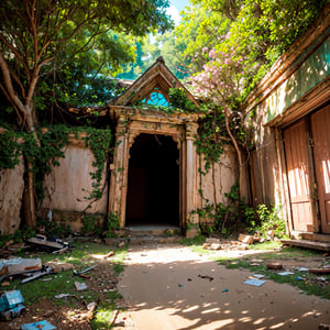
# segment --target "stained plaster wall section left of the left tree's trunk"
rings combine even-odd
[[[24,164],[13,169],[0,168],[0,234],[11,234],[20,229]]]

